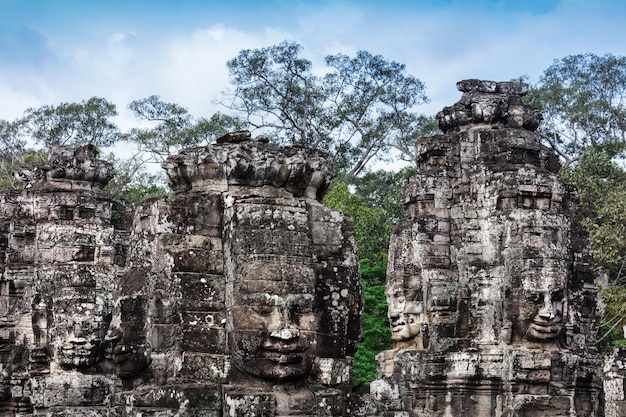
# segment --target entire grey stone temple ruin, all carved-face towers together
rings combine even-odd
[[[363,294],[327,155],[234,132],[170,156],[173,194],[137,207],[90,146],[0,195],[0,416],[623,414],[626,355],[603,404],[588,240],[527,87],[458,88],[403,183],[371,395],[351,390]]]

